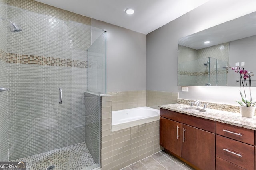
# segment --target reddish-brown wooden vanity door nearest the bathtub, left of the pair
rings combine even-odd
[[[182,124],[160,117],[160,145],[181,157]]]

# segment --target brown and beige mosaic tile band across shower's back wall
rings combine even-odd
[[[88,68],[87,61],[7,53],[7,63]]]

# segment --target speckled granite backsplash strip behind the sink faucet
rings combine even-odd
[[[195,102],[195,100],[181,99],[181,98],[177,99],[178,104],[190,105],[189,102]],[[235,106],[235,105],[218,104],[218,103],[211,103],[211,102],[204,102],[204,101],[200,101],[200,104],[201,106],[203,106],[204,104],[207,104],[207,108],[210,108],[210,109],[240,113],[239,106]]]

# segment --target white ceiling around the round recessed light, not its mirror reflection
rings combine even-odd
[[[186,14],[208,0],[36,0],[44,4],[68,10],[148,34],[166,23]],[[124,12],[135,10],[133,15]]]

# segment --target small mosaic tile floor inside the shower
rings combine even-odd
[[[85,142],[12,161],[26,162],[26,170],[46,170],[50,165],[56,166],[53,170],[81,170],[95,164]]]

